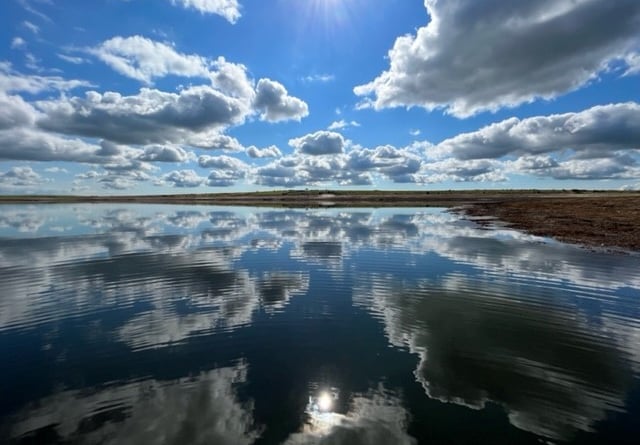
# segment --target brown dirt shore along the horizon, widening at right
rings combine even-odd
[[[0,204],[65,202],[302,208],[452,207],[470,219],[487,222],[495,218],[534,235],[590,247],[640,251],[640,192],[294,190],[145,196],[0,196]]]

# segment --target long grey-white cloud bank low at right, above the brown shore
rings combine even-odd
[[[640,173],[640,105],[510,118],[425,147],[426,182],[503,181],[508,173],[553,179],[626,179]]]

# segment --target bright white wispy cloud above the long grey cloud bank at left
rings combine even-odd
[[[114,37],[89,50],[118,73],[147,84],[168,74],[207,77],[207,60],[180,54],[172,46],[142,37]]]

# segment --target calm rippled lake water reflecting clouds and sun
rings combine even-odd
[[[443,209],[0,211],[0,442],[639,437],[639,256]]]

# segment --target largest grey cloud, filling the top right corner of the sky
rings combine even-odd
[[[637,51],[640,3],[425,0],[430,22],[399,37],[363,105],[466,117],[575,90]]]

